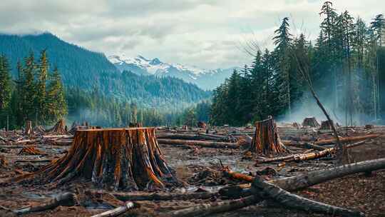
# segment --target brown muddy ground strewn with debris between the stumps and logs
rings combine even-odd
[[[292,129],[290,132],[292,133]],[[383,133],[383,128],[376,128],[376,133]],[[282,137],[284,130],[280,130]],[[302,133],[302,131],[301,131]],[[347,132],[349,133],[349,132]],[[363,129],[355,129],[349,133],[364,135],[370,133]],[[375,158],[385,158],[385,138],[379,137],[368,141],[364,146],[353,148],[349,151],[350,161],[365,161]],[[47,153],[46,156],[23,156],[19,155],[19,148],[1,148],[0,155],[6,159],[6,165],[0,168],[0,178],[18,176],[22,173],[36,171],[46,163],[24,163],[18,162],[21,159],[52,159],[65,154],[68,146],[43,146],[38,145],[39,150]],[[203,188],[206,191],[217,191],[223,186],[242,183],[230,180],[222,176],[222,166],[229,166],[232,171],[255,174],[258,171],[266,171],[266,168],[273,168],[272,173],[265,178],[280,178],[294,176],[307,171],[315,171],[322,168],[334,166],[331,157],[319,160],[261,164],[255,166],[253,158],[244,158],[245,150],[242,149],[220,149],[220,148],[197,148],[187,146],[166,146],[160,145],[168,164],[175,169],[178,178],[186,185],[185,188],[173,189],[175,192],[197,191]],[[300,148],[292,148],[294,151],[304,151]],[[92,216],[101,213],[113,206],[119,206],[123,202],[112,196],[101,194],[91,195],[89,190],[94,189],[90,183],[81,180],[73,181],[61,188],[50,188],[49,186],[28,186],[11,184],[0,187],[0,216],[11,216],[5,208],[15,209],[24,206],[31,206],[47,201],[51,196],[63,191],[71,191],[78,195],[81,206],[59,206],[51,211],[31,213],[25,216]],[[337,178],[326,183],[299,191],[297,194],[306,198],[321,201],[334,206],[342,206],[362,211],[366,216],[385,216],[385,171],[376,171],[372,174],[355,174],[344,178]],[[125,216],[159,216],[167,211],[179,208],[188,208],[200,203],[219,201],[220,198],[211,198],[199,201],[142,201],[141,207],[125,213]],[[283,208],[277,204],[260,203],[257,206],[242,208],[237,211],[217,214],[215,216],[324,216],[304,211],[294,211]]]

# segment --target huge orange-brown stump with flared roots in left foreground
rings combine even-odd
[[[16,181],[58,186],[75,178],[114,190],[179,185],[160,152],[155,128],[78,130],[66,156]]]

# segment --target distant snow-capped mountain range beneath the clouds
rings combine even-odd
[[[164,63],[158,58],[146,59],[143,56],[129,58],[125,55],[113,55],[109,56],[108,59],[120,71],[132,71],[139,75],[173,76],[197,84],[205,90],[215,89],[230,77],[235,69],[200,69],[196,66]]]

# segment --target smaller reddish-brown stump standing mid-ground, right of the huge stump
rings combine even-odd
[[[250,151],[257,154],[274,155],[287,152],[287,148],[279,138],[277,123],[272,116],[265,121],[255,123],[255,133]]]

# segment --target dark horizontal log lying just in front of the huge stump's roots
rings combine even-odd
[[[99,191],[98,191],[99,192]],[[145,193],[145,192],[113,192],[113,196],[120,201],[188,201],[208,199],[218,196],[218,193],[193,192],[193,193]]]

